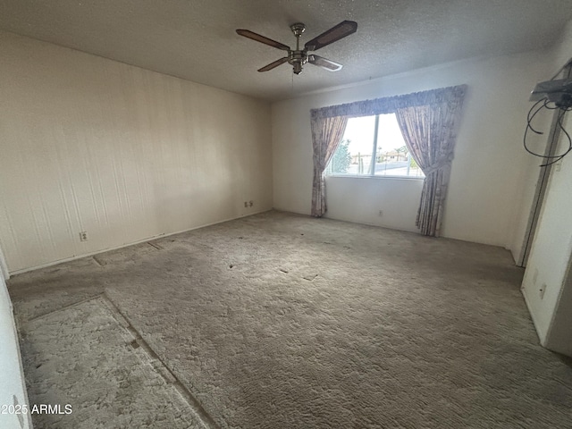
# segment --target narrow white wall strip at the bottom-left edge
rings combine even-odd
[[[13,319],[12,301],[4,278],[0,275],[0,406],[14,405],[14,397],[18,404],[28,407],[28,394],[21,368],[18,335]],[[3,408],[4,410],[4,408]],[[6,413],[9,409],[4,410]],[[29,411],[29,408],[28,408]],[[4,414],[0,412],[0,427],[31,427],[29,413],[26,415]]]

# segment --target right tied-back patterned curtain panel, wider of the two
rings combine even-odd
[[[397,121],[409,152],[425,173],[416,226],[423,235],[439,237],[447,196],[456,124],[465,87],[447,88],[433,103],[399,107]]]

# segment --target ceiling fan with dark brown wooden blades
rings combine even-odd
[[[306,63],[317,65],[327,71],[339,71],[342,67],[340,63],[334,63],[322,56],[308,54],[308,52],[317,51],[321,47],[328,46],[333,42],[337,42],[341,38],[345,38],[350,34],[355,33],[357,31],[357,22],[341,21],[335,27],[324,31],[321,35],[306,42],[304,49],[300,49],[300,37],[306,30],[306,25],[301,22],[296,22],[295,24],[290,25],[290,29],[292,30],[292,33],[294,33],[294,36],[296,36],[296,49],[290,49],[290,46],[283,45],[272,38],[265,38],[249,29],[237,29],[236,32],[245,38],[251,38],[257,42],[264,43],[265,45],[282,49],[282,51],[288,51],[288,56],[284,56],[273,63],[269,63],[261,69],[258,69],[258,71],[269,71],[283,63],[289,63],[295,74],[300,74],[302,66]]]

